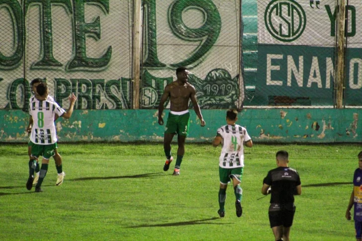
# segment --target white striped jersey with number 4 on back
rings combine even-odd
[[[239,125],[226,125],[217,130],[217,136],[222,138],[219,166],[222,168],[243,167],[244,142],[251,140],[246,129]]]

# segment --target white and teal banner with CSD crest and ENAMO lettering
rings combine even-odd
[[[334,104],[339,7],[334,0],[317,2],[258,1],[255,93],[266,102],[271,96],[288,96],[311,99],[312,105]],[[361,105],[362,28],[356,24],[361,10],[361,1],[350,0],[346,6],[346,105]]]

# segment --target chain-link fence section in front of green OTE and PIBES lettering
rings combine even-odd
[[[130,108],[132,4],[0,0],[0,109],[25,110],[35,78],[64,108]]]

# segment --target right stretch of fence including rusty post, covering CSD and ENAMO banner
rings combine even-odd
[[[339,4],[243,0],[246,106],[361,107],[362,3]]]

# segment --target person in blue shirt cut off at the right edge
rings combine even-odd
[[[351,209],[354,207],[355,229],[356,239],[361,241],[362,239],[362,152],[358,154],[359,168],[355,170],[353,176],[353,190],[350,197],[350,203],[348,204],[346,211],[347,220],[351,220]]]

